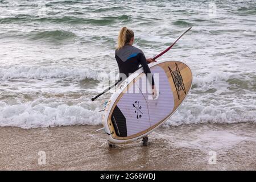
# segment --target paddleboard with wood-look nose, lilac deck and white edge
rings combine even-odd
[[[148,64],[156,94],[143,68],[130,75],[106,104],[102,123],[111,143],[129,143],[150,134],[177,110],[192,85],[192,72],[180,61]]]

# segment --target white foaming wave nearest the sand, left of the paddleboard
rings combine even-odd
[[[0,126],[31,129],[37,127],[56,127],[71,125],[100,125],[101,113],[79,105],[65,104],[53,107],[47,104],[29,102],[7,105],[0,101]]]

